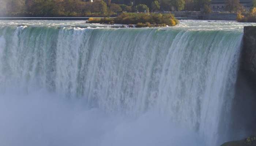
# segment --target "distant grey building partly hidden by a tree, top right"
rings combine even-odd
[[[240,0],[240,4],[248,11],[252,7],[252,0]],[[210,6],[212,11],[226,11],[226,0],[212,0]]]

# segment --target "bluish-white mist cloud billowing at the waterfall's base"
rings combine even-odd
[[[203,146],[196,133],[147,112],[137,118],[83,106],[39,91],[0,96],[0,145]]]

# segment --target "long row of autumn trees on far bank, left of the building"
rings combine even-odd
[[[0,0],[1,16],[112,16],[118,12],[200,11],[210,0]]]

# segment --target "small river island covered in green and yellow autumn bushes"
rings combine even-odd
[[[135,24],[136,27],[175,26],[178,20],[172,14],[123,13],[116,18],[90,18],[89,23]]]

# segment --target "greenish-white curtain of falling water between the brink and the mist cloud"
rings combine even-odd
[[[0,97],[44,90],[109,115],[155,111],[216,146],[227,140],[241,40],[222,30],[4,26]]]

